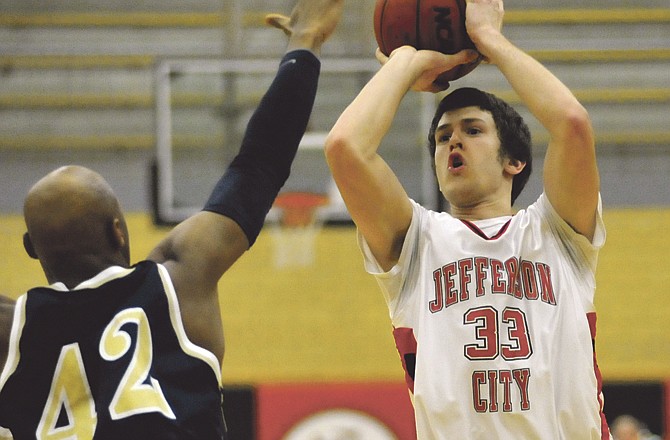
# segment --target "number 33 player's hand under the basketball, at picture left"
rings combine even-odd
[[[432,50],[416,50],[411,46],[401,46],[391,52],[388,57],[377,48],[375,56],[382,65],[395,56],[411,56],[412,59],[408,65],[414,69],[415,75],[411,89],[417,92],[437,93],[449,88],[449,82],[439,80],[442,73],[458,65],[475,61],[479,57],[479,53],[468,49],[453,55],[447,55]]]

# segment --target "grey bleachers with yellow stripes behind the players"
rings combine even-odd
[[[64,10],[37,0],[0,0],[1,154],[139,149],[150,156],[156,63],[184,57],[276,59],[284,40],[264,27],[262,18],[271,10],[288,13],[292,5],[165,2],[146,10],[129,1],[113,3],[79,0]],[[345,21],[324,57],[371,58],[371,3],[347,4]],[[590,107],[600,144],[670,146],[670,124],[663,123],[670,114],[667,1],[630,6],[608,0],[584,8],[576,0],[560,5],[510,0],[506,9],[508,36],[549,65]],[[490,69],[477,69],[471,79],[515,101]],[[236,99],[247,104],[259,98],[258,90],[241,93]],[[175,93],[172,105],[188,121],[202,113],[189,109],[216,110],[225,100],[191,87]],[[326,119],[334,120],[345,104],[328,106],[333,115]],[[175,139],[176,146],[199,147],[219,135],[187,128]]]

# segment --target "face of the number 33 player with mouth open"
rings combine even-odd
[[[491,113],[464,107],[442,115],[435,131],[435,170],[453,206],[476,206],[506,192],[500,139]]]

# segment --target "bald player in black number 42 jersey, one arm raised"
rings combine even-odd
[[[0,425],[16,439],[221,439],[217,283],[254,243],[289,175],[343,0],[299,0],[275,80],[204,210],[130,265],[119,201],[97,173],[59,168],[29,191],[26,250],[50,286],[0,323]],[[0,315],[4,316],[4,314]]]

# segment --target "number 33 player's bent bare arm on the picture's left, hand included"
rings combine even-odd
[[[326,141],[326,159],[356,226],[377,261],[390,269],[397,261],[412,219],[408,196],[377,153],[405,94],[437,91],[443,72],[471,61],[476,54],[443,55],[403,46],[387,60],[345,109]]]

